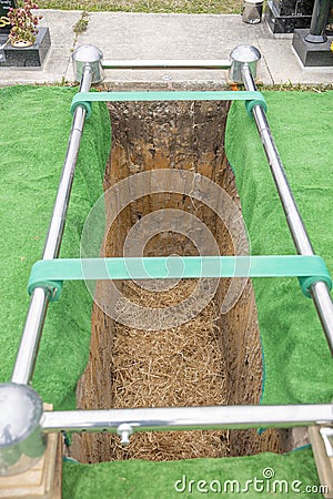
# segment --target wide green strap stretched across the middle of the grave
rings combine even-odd
[[[316,255],[157,256],[42,259],[31,269],[28,292],[43,287],[50,301],[57,301],[63,281],[294,276],[305,296],[311,296],[310,286],[317,281],[332,288],[325,262]]]

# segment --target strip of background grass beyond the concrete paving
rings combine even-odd
[[[165,12],[240,13],[242,0],[40,0],[40,9]]]

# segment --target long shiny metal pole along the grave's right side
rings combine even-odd
[[[256,85],[248,64],[243,65],[242,77],[245,89],[255,91]],[[300,255],[314,255],[310,237],[301,218],[280,154],[272,138],[265,112],[260,105],[254,105],[253,116],[297,253]],[[311,296],[326,335],[331,353],[333,354],[333,304],[330,292],[323,282],[317,282],[311,286]]]

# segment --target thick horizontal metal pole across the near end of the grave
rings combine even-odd
[[[65,410],[44,413],[43,431],[110,431],[121,425],[133,431],[195,429],[291,428],[330,425],[333,406],[216,406],[144,409]]]

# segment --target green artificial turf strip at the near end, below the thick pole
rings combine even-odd
[[[235,482],[231,483],[232,480]],[[317,487],[310,448],[285,456],[261,454],[246,458],[98,465],[65,462],[63,469],[63,499],[320,498]]]

